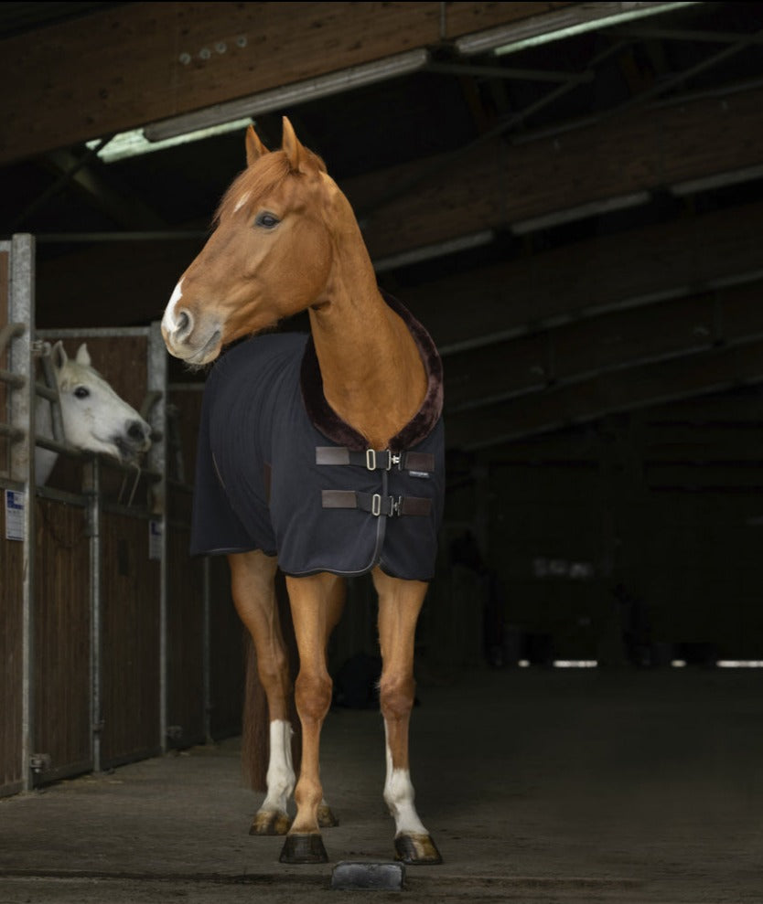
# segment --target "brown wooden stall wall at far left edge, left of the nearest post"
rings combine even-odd
[[[5,244],[5,243],[4,243]],[[8,322],[7,248],[0,249],[0,330]],[[8,369],[8,356],[0,349],[0,370]],[[0,380],[0,422],[10,421],[8,391]],[[0,434],[0,478],[9,477],[10,442]],[[21,762],[22,728],[22,610],[21,576],[23,568],[22,544],[5,539],[5,486],[3,490],[3,533],[0,536],[0,712],[3,730],[0,731],[0,794],[18,790],[24,779]]]

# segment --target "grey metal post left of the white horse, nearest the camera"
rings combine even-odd
[[[27,234],[11,239],[11,323],[27,324],[10,343],[10,369],[24,377],[11,393],[11,423],[25,439],[11,446],[11,478],[24,484],[24,578],[22,599],[21,774],[23,788],[32,785],[30,762],[34,749],[34,606],[35,606],[35,367],[32,330],[35,323],[35,239]]]

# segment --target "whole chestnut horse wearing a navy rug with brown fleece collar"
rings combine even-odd
[[[210,239],[167,304],[162,332],[169,352],[191,366],[219,358],[205,387],[191,552],[228,555],[267,697],[267,788],[251,831],[286,835],[282,862],[328,860],[320,826],[333,816],[318,766],[331,703],[326,649],[345,578],[371,572],[383,795],[396,856],[440,863],[416,813],[408,754],[414,633],[442,517],[440,359],[421,324],[378,288],[347,198],[291,123],[284,118],[274,152],[250,126],[246,153]],[[255,335],[303,311],[309,335]],[[253,338],[220,355],[244,336]],[[294,687],[274,590],[279,566],[299,652]],[[292,695],[302,729],[296,787]]]

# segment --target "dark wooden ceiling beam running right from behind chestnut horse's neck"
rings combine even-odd
[[[749,280],[763,273],[761,233],[763,204],[722,209],[452,274],[411,287],[403,302],[455,354]]]

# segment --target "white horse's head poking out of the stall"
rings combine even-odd
[[[137,463],[151,445],[151,427],[93,369],[87,346],[82,343],[70,358],[57,342],[51,357],[67,441],[124,464]]]

